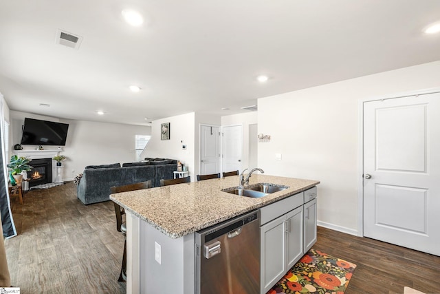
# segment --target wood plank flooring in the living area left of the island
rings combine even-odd
[[[110,191],[109,191],[110,193]],[[11,200],[17,237],[5,240],[21,293],[126,293],[118,282],[124,237],[113,202],[84,205],[73,182]]]

